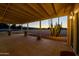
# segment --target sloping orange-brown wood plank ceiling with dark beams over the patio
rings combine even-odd
[[[0,4],[0,22],[28,23],[68,15],[76,4],[9,3]]]

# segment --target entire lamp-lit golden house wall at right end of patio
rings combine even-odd
[[[76,53],[79,53],[79,13],[72,13],[68,19],[67,44],[72,47]]]

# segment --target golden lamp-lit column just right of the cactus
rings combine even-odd
[[[67,46],[72,45],[71,43],[71,39],[72,39],[72,21],[73,21],[73,16],[72,15],[68,15],[68,20],[67,20]],[[73,39],[72,39],[73,40]]]

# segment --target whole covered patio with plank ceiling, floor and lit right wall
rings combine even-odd
[[[50,56],[61,55],[62,51],[73,52],[76,55],[78,53],[78,6],[79,4],[70,3],[0,4],[0,23],[9,25],[27,23],[27,29],[21,28],[19,34],[13,34],[10,26],[8,32],[0,32],[0,53],[2,53],[0,55]],[[67,36],[43,35],[41,21],[60,16],[68,16]],[[28,24],[34,21],[39,21],[40,24],[37,34],[29,33],[28,29]],[[50,28],[52,29],[52,26]]]

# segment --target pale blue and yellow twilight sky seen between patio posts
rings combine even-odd
[[[50,21],[51,19],[46,19],[41,21],[41,27],[48,28],[50,25]],[[53,23],[53,26],[55,26],[56,23],[58,23],[58,18],[52,18],[52,23]],[[63,28],[67,28],[67,16],[59,17],[59,24],[61,23]],[[27,24],[23,24],[23,26],[27,27]],[[29,27],[39,28],[39,21],[29,23]]]

